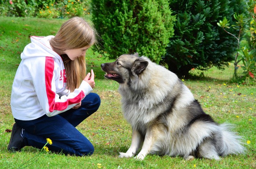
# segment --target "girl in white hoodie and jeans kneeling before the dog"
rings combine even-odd
[[[73,17],[56,36],[32,36],[21,54],[12,85],[12,127],[8,150],[24,146],[91,155],[94,147],[75,127],[98,110],[100,98],[90,93],[94,72],[86,75],[86,50],[95,43],[95,31],[85,20]]]

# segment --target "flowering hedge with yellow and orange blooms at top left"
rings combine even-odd
[[[1,16],[45,18],[85,17],[90,15],[90,0],[0,0]]]

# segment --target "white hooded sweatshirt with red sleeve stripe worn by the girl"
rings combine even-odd
[[[54,36],[32,36],[22,54],[22,61],[12,85],[11,109],[14,118],[33,120],[67,111],[93,89],[83,80],[78,89],[67,89],[65,68],[61,57],[52,50],[49,40]]]

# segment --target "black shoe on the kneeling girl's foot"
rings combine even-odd
[[[25,146],[24,138],[22,138],[21,134],[22,128],[20,128],[16,123],[14,123],[12,127],[11,139],[8,145],[8,150],[10,152],[20,151]]]

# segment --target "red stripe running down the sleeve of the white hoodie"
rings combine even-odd
[[[45,58],[45,86],[46,93],[49,103],[49,111],[53,112],[54,110],[65,110],[68,105],[72,105],[74,103],[79,103],[84,97],[83,91],[81,91],[75,98],[67,99],[65,102],[55,102],[55,93],[52,91],[52,78],[53,78],[53,70],[54,70],[54,60],[52,57]]]

